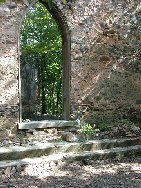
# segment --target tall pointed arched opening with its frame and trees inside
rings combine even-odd
[[[46,23],[43,27],[41,20],[39,19],[38,22],[37,17],[35,22],[38,22],[38,24],[36,26],[33,26],[34,21],[32,19],[29,25],[26,23],[29,26],[27,29],[30,28],[33,30],[30,32],[34,33],[34,38],[30,39],[30,36],[27,37],[26,32],[27,35],[30,35],[30,33],[25,31],[26,28],[22,27],[25,16],[21,22],[19,42],[20,122],[23,119],[42,120],[55,118],[68,120],[70,113],[69,29],[57,6],[54,5],[49,9],[47,2],[40,1],[32,3],[28,7],[25,15],[28,17],[28,13],[30,13],[32,18],[32,15],[34,16],[37,9],[40,9],[40,14],[42,14],[41,19],[44,16],[47,19],[44,17],[46,20],[44,22]],[[25,22],[28,22],[28,19]],[[40,40],[39,33],[36,33],[37,25],[40,25],[40,28],[42,28],[40,35],[45,35],[42,38],[43,41],[40,41],[40,43],[38,41]],[[23,33],[25,34],[24,36]],[[47,36],[47,34],[50,36]],[[24,48],[22,46],[23,40],[27,43],[24,44]],[[36,46],[36,50],[34,46]],[[54,49],[51,50],[52,48]],[[54,70],[52,71],[52,69]]]

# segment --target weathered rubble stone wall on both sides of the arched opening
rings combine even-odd
[[[141,121],[140,0],[55,0],[71,31],[71,117]],[[27,0],[0,4],[0,116],[18,119],[18,35]]]

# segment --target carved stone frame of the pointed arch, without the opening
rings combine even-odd
[[[24,19],[24,16],[29,11],[29,9],[37,3],[38,0],[32,1],[26,10],[24,11],[20,26],[19,26],[19,36],[18,36],[18,59],[19,59],[19,123],[22,122],[22,103],[21,103],[21,73],[20,73],[20,29],[22,25],[22,21]],[[70,117],[70,51],[71,51],[71,38],[70,38],[70,30],[66,21],[65,16],[63,15],[62,11],[57,7],[56,4],[49,9],[48,3],[40,0],[47,10],[50,12],[50,14],[53,16],[53,18],[56,20],[56,22],[59,25],[59,29],[61,31],[62,35],[62,54],[63,54],[63,91],[62,91],[62,111],[63,111],[63,119],[69,120]]]

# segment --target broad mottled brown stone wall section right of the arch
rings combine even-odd
[[[76,1],[67,18],[79,116],[93,123],[107,117],[141,122],[140,1]]]

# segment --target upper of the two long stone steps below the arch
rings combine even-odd
[[[141,138],[130,139],[103,139],[91,140],[86,142],[56,142],[56,143],[36,143],[33,146],[11,146],[0,147],[0,161],[3,160],[18,160],[24,158],[34,158],[40,156],[50,156],[52,154],[65,154],[65,153],[83,153],[92,152],[96,150],[108,150],[112,148],[128,148],[138,146],[141,147]],[[139,149],[138,148],[138,149]],[[102,154],[102,153],[101,153]]]

